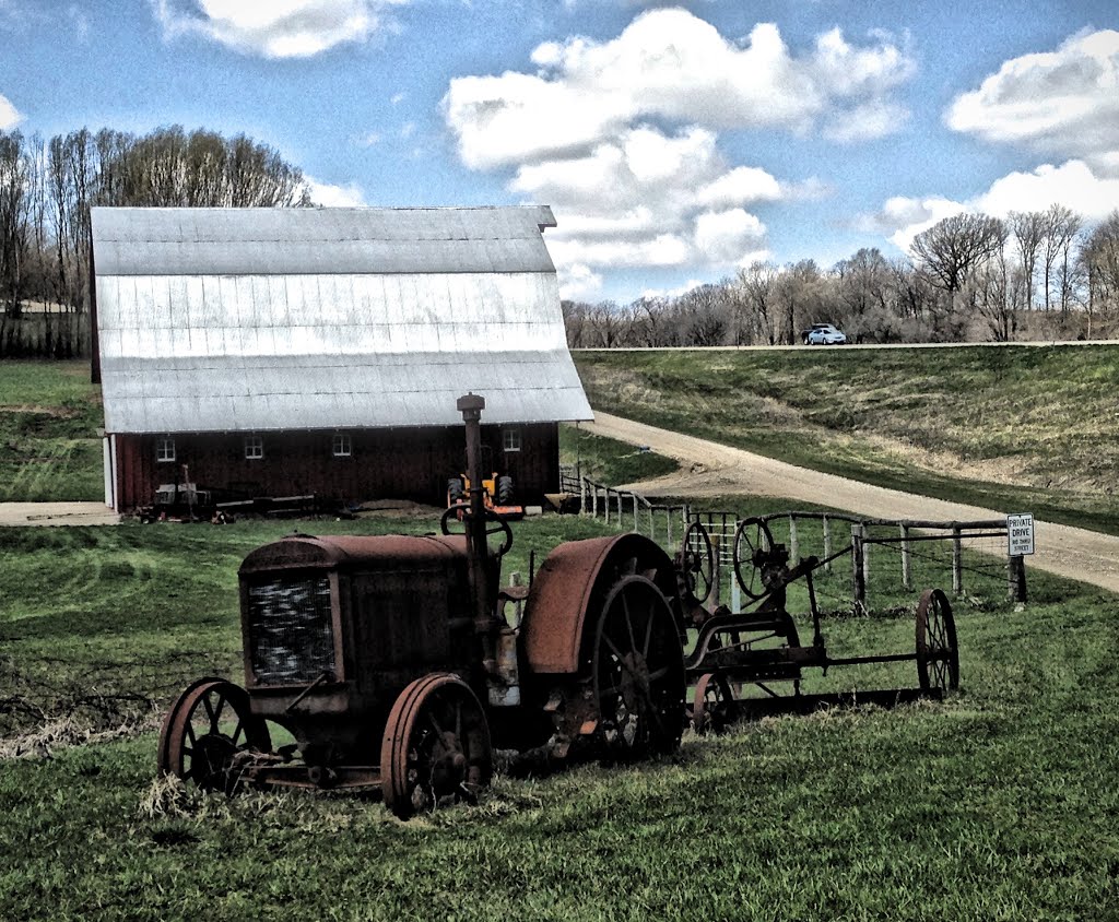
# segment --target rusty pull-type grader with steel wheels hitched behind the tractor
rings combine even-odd
[[[694,639],[688,641],[685,671],[694,689],[689,716],[698,733],[718,731],[747,714],[856,702],[888,706],[916,697],[941,698],[959,686],[956,621],[947,595],[939,589],[925,590],[918,602],[913,652],[828,653],[812,574],[850,552],[848,546],[824,559],[806,557],[790,566],[788,549],[773,540],[765,520],[743,519],[735,530],[733,565],[744,602],[737,612],[725,606],[712,610],[704,604],[718,578],[712,542],[702,524],[689,526],[679,556],[683,578],[690,590],[687,598]],[[789,586],[801,580],[812,631],[807,645],[801,643],[787,602]],[[826,672],[836,666],[905,661],[916,665],[914,687],[862,690],[857,695],[801,693],[802,670],[808,667]]]

